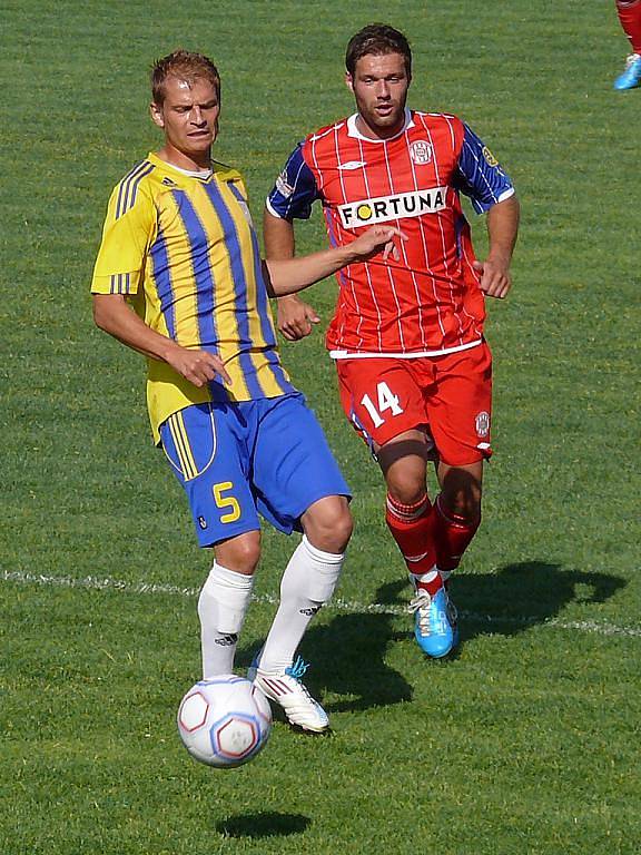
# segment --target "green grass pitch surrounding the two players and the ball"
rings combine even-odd
[[[638,853],[641,91],[611,88],[613,2],[7,0],[2,18],[2,855]],[[454,586],[463,643],[420,657],[322,336],[284,345],[355,491],[338,600],[303,646],[334,734],[278,723],[254,763],[217,772],[175,728],[210,559],[150,443],[141,360],[92,326],[92,263],[110,188],[158,142],[156,57],[216,59],[216,156],[259,222],[293,145],[351,111],[344,48],[371,20],[412,39],[410,105],[465,118],[523,206],[514,291],[490,306],[495,456]],[[317,212],[299,248],[323,240]],[[334,284],[309,299],[326,321]],[[239,669],[294,548],[264,544]]]

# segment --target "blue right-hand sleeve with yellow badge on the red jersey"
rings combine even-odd
[[[483,214],[492,205],[512,196],[514,187],[487,146],[467,125],[464,128],[454,187],[470,197],[477,214]]]

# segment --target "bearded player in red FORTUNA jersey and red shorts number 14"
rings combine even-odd
[[[403,33],[372,24],[347,46],[346,83],[357,112],[310,134],[266,203],[269,258],[294,254],[296,218],[320,200],[333,246],[373,223],[402,228],[398,261],[372,259],[337,275],[326,343],[347,417],[385,476],[386,519],[415,588],[415,637],[432,657],[457,640],[448,577],[481,521],[483,461],[491,455],[492,360],[484,295],[505,297],[519,204],[497,161],[455,116],[406,108],[412,53]],[[460,193],[487,214],[479,262]],[[310,331],[310,307],[282,304],[289,338]],[[441,493],[427,495],[434,460]]]

